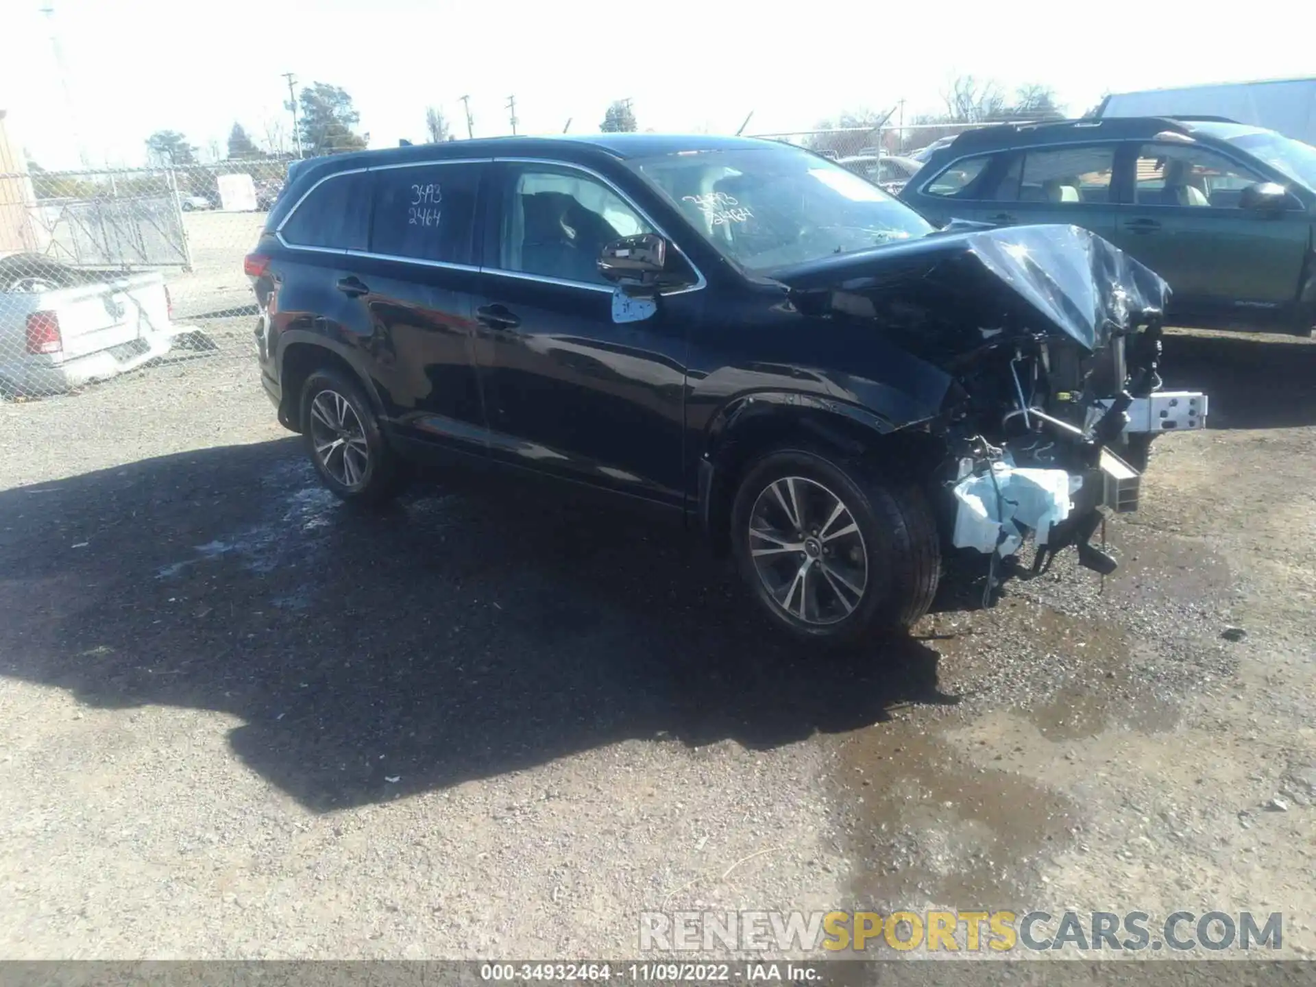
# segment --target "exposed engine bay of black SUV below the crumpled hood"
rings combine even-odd
[[[1070,545],[1088,569],[1115,570],[1091,540],[1100,508],[1137,509],[1154,433],[1136,430],[1130,408],[1166,404],[1158,430],[1200,428],[1207,411],[1202,395],[1157,400],[1159,313],[1145,318],[1096,354],[1045,336],[984,354],[963,380],[966,400],[946,433],[957,547],[1008,558],[1032,536],[1034,574]],[[1183,415],[1171,418],[1169,401]]]

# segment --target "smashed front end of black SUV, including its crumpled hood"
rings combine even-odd
[[[1152,438],[1205,424],[1207,397],[1158,374],[1166,283],[1075,226],[951,225],[854,259],[780,272],[801,312],[876,328],[923,370],[896,430],[934,437],[924,463],[946,540],[1032,571],[1092,545],[1103,511],[1137,509]],[[932,372],[933,368],[940,372]],[[909,384],[907,387],[915,387]]]

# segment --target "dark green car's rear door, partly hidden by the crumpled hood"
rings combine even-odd
[[[1013,151],[983,190],[980,217],[998,226],[1070,224],[1109,238],[1115,229],[1113,143]]]

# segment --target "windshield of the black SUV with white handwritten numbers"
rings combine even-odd
[[[715,247],[751,272],[933,229],[876,186],[799,147],[688,151],[630,163]]]

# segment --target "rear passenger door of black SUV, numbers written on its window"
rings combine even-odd
[[[404,436],[484,451],[471,299],[478,290],[478,161],[371,168],[368,251],[340,291],[365,304],[363,346],[387,415]]]

